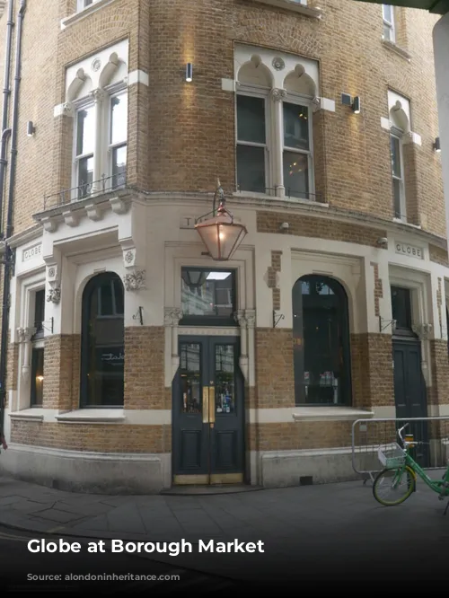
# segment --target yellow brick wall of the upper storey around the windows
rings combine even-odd
[[[129,70],[149,74],[150,88],[130,90],[128,180],[149,190],[210,191],[219,174],[234,188],[233,94],[221,88],[233,78],[233,45],[250,43],[320,61],[321,95],[336,112],[315,117],[317,189],[333,207],[392,218],[387,89],[409,97],[412,128],[422,145],[412,154],[410,215],[424,229],[445,235],[439,157],[432,29],[436,16],[400,13],[401,43],[411,61],[385,48],[381,6],[354,0],[323,0],[321,21],[288,10],[242,0],[115,0],[80,22],[60,29],[74,2],[29,3],[23,34],[21,118],[14,230],[32,223],[45,193],[69,184],[70,130],[54,119],[64,101],[66,66],[129,40]],[[0,19],[0,47],[5,18]],[[194,82],[183,71],[194,63]],[[0,59],[3,72],[4,57]],[[355,117],[341,92],[359,95]],[[26,136],[32,119],[36,135]],[[70,121],[70,120],[69,120]],[[68,149],[67,149],[68,148]],[[45,156],[45,157],[44,157]]]

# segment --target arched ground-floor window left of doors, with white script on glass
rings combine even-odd
[[[83,294],[81,406],[121,407],[124,394],[124,290],[120,278],[104,272]]]

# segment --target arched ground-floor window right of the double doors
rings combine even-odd
[[[333,278],[305,276],[293,287],[296,405],[348,405],[348,297]]]

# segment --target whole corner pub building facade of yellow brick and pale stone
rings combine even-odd
[[[355,419],[449,415],[435,22],[29,0],[4,470],[95,492],[348,479]],[[194,229],[217,178],[248,229],[226,262]]]

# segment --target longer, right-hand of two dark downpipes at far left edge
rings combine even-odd
[[[4,437],[4,407],[6,402],[6,365],[9,337],[9,295],[11,275],[13,271],[14,251],[8,244],[13,233],[13,199],[15,189],[15,172],[17,166],[17,127],[19,122],[19,91],[22,71],[22,27],[26,10],[26,0],[21,0],[17,13],[17,34],[15,39],[15,72],[13,89],[13,123],[11,128],[11,160],[9,164],[8,206],[6,214],[6,231],[4,235],[4,286],[2,301],[2,328],[0,341],[0,439]]]

